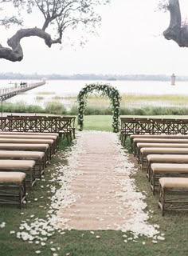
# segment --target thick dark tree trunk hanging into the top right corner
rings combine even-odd
[[[170,11],[170,25],[163,32],[167,40],[174,40],[180,47],[188,47],[188,25],[182,22],[181,10],[178,0],[162,0],[160,8]]]

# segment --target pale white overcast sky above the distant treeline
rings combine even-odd
[[[22,62],[0,59],[1,72],[188,75],[188,48],[180,48],[163,37],[170,14],[157,10],[158,0],[111,1],[108,6],[99,7],[102,25],[97,36],[88,36],[84,47],[65,43],[62,50],[57,45],[49,49],[41,38],[24,38]],[[183,18],[188,17],[188,1],[179,2]],[[38,21],[36,16],[29,22],[40,27]],[[1,29],[3,46],[16,29]],[[69,38],[71,43],[79,42],[75,32]]]

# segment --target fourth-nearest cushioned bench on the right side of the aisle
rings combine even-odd
[[[183,144],[182,144],[183,145]],[[148,154],[188,154],[188,148],[179,147],[143,147],[140,150],[139,164],[144,170]]]

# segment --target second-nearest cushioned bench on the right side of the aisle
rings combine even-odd
[[[155,188],[159,186],[159,178],[183,177],[188,178],[187,163],[152,163],[151,164],[151,190],[155,194]]]

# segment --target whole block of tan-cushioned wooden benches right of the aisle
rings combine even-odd
[[[131,147],[147,173],[153,194],[159,188],[159,207],[188,210],[188,138],[186,135],[132,134]]]

